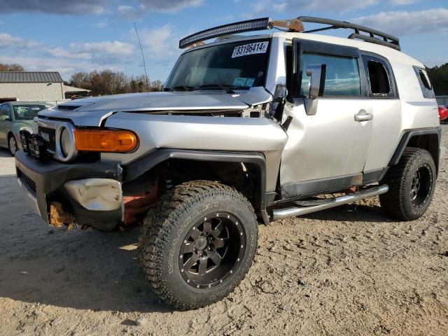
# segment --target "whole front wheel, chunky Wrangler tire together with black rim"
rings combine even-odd
[[[176,309],[196,309],[223,299],[244,279],[257,237],[246,197],[221,183],[191,181],[149,211],[139,261],[162,300]]]

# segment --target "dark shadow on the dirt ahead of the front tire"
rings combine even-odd
[[[171,311],[137,262],[139,230],[50,228],[0,176],[0,297],[93,311]]]

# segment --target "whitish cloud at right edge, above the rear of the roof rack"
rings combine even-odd
[[[381,12],[354,18],[353,22],[398,36],[435,32],[447,33],[448,9]]]

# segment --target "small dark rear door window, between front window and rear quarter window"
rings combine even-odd
[[[395,97],[391,71],[384,60],[363,56],[369,85],[369,97]]]

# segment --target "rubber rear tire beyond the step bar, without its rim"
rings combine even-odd
[[[428,179],[426,202],[416,206],[412,202],[412,183],[421,167],[428,169],[431,177]],[[436,176],[434,160],[428,151],[421,148],[405,148],[398,165],[389,168],[384,180],[381,181],[389,186],[388,193],[379,196],[381,208],[389,216],[401,221],[414,221],[420,218],[428,210],[432,200]]]

